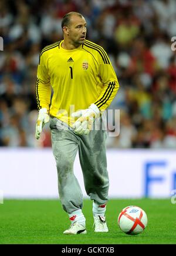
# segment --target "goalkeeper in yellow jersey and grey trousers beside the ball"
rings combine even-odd
[[[108,232],[109,177],[101,112],[109,107],[119,83],[106,51],[86,40],[86,21],[81,14],[66,14],[62,29],[63,40],[43,48],[39,57],[36,138],[50,119],[59,197],[71,221],[63,234],[86,234],[82,191],[73,172],[77,151],[84,186],[93,200],[94,231]],[[97,120],[100,129],[93,128]]]

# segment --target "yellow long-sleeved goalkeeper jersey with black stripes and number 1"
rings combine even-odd
[[[119,82],[101,46],[85,40],[79,48],[66,50],[62,42],[40,53],[36,98],[39,109],[47,108],[50,115],[72,126],[72,112],[92,103],[100,111],[109,107]]]

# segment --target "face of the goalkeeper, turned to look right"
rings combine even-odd
[[[86,39],[86,21],[84,18],[80,18],[77,15],[72,15],[70,18],[70,24],[67,27],[70,42],[74,45],[84,44]]]

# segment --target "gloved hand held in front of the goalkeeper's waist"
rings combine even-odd
[[[93,121],[100,114],[99,108],[95,104],[91,104],[89,108],[74,112],[72,117],[79,117],[73,124],[77,135],[87,135],[92,129]]]

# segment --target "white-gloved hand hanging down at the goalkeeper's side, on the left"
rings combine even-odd
[[[38,121],[36,123],[36,131],[35,131],[36,139],[40,138],[40,133],[42,132],[42,128],[47,122],[49,122],[48,111],[46,108],[41,108],[39,110]]]

